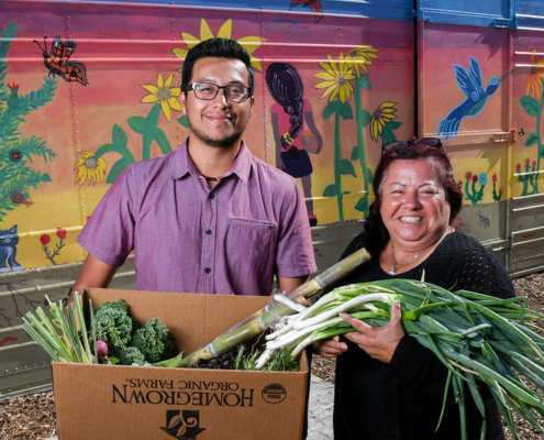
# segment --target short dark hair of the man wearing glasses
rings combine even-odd
[[[232,58],[240,59],[247,68],[247,78],[249,86],[249,96],[255,88],[255,75],[251,63],[251,55],[235,40],[231,38],[210,38],[204,40],[192,47],[185,58],[184,69],[181,70],[181,90],[187,94],[192,79],[192,67],[200,58]]]

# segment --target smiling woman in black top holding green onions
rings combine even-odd
[[[448,289],[467,289],[501,298],[514,296],[506,268],[476,240],[456,232],[462,194],[437,139],[395,142],[374,176],[375,201],[365,230],[344,256],[366,248],[373,258],[342,284],[389,278],[421,279]],[[447,370],[415,339],[406,336],[398,302],[391,322],[373,329],[347,315],[357,332],[314,343],[313,350],[336,360],[334,437],[344,439],[459,440],[459,413],[453,393],[436,429]],[[467,396],[470,439],[479,439],[482,418]],[[503,439],[497,404],[484,391],[487,439]]]

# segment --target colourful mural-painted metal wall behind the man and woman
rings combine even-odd
[[[0,274],[0,398],[47,388],[51,383],[48,360],[19,326],[22,314],[43,304],[45,294],[53,300],[66,297],[85,258],[75,237],[107,185],[74,184],[78,154],[96,153],[99,145],[112,142],[121,132],[118,127],[141,160],[141,138],[131,130],[127,119],[148,114],[149,105],[134,106],[146,94],[142,84],[156,81],[157,73],[166,78],[176,72],[180,59],[171,48],[185,47],[188,35],[201,38],[208,29],[213,34],[230,29],[235,38],[259,38],[254,40],[254,55],[262,70],[256,73],[257,106],[247,135],[252,152],[268,163],[275,164],[276,158],[270,123],[274,101],[262,73],[274,62],[286,62],[303,79],[304,96],[324,139],[322,152],[312,156],[311,199],[319,219],[312,237],[320,271],[335,263],[362,229],[371,201],[367,169],[379,160],[381,143],[391,136],[441,135],[440,122],[466,98],[456,80],[455,66],[469,70],[473,57],[481,70],[484,87],[493,77],[500,84],[478,113],[464,116],[455,135],[445,142],[465,198],[455,227],[490,248],[514,276],[542,270],[544,201],[540,190],[530,194],[543,185],[542,141],[531,136],[540,133],[536,114],[542,109],[529,114],[528,102],[534,102],[523,97],[528,96],[529,78],[544,72],[539,69],[544,53],[533,52],[542,47],[543,4],[422,1],[413,11],[408,0],[322,0],[320,16],[301,4],[289,10],[290,0],[266,4],[244,0],[227,8],[219,0],[3,1],[7,18],[24,20],[21,36],[10,41],[9,58],[0,59],[10,65],[8,84],[16,80],[26,91],[42,84],[47,68],[33,40],[40,40],[43,46],[41,38],[48,34],[51,44],[58,32],[63,41],[77,41],[74,58],[87,65],[91,86],[58,80],[48,107],[29,117],[21,128],[27,138],[42,136],[58,154],[46,164],[36,160],[33,167],[51,175],[48,188],[58,185],[62,190],[32,190],[31,199],[25,200],[32,206],[16,206],[8,220],[0,219],[0,231],[19,223],[18,258],[24,266],[21,272]],[[377,48],[378,57],[367,65],[364,87],[346,98],[345,118],[335,120],[334,112],[329,112],[330,96],[323,97],[323,90],[314,87],[320,81],[315,74],[323,70],[324,63],[337,63],[341,54],[346,59],[356,56],[363,45]],[[101,97],[99,103],[96,97]],[[542,96],[532,97],[537,105],[542,102]],[[13,98],[8,101],[13,102]],[[375,127],[370,118],[379,117],[380,106],[388,103],[395,105],[397,118],[387,121],[384,132],[373,132],[378,133],[375,139],[370,135]],[[177,117],[174,114],[167,124],[162,116],[159,124],[173,144],[182,142],[187,134]],[[156,145],[151,153],[162,154]],[[109,152],[104,158],[109,170],[119,153]],[[533,162],[539,162],[535,169]],[[331,187],[341,190],[331,193]],[[33,219],[30,226],[29,213]],[[65,235],[58,233],[59,227],[67,237],[51,261],[41,241],[47,235],[52,251]],[[132,258],[118,273],[112,287],[135,288]]]

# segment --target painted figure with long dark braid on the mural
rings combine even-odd
[[[271,64],[266,70],[266,84],[276,101],[270,109],[276,167],[301,179],[310,224],[317,226],[312,200],[313,167],[308,153],[318,154],[323,141],[313,121],[312,106],[303,98],[302,80],[289,64]],[[304,129],[304,122],[308,129]]]

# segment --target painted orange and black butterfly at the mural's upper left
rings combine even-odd
[[[34,43],[43,51],[45,67],[49,69],[49,75],[58,75],[66,81],[77,81],[84,86],[88,86],[87,80],[87,67],[80,62],[69,62],[71,54],[77,47],[75,41],[68,40],[63,43],[57,35],[53,41],[53,47],[51,53],[47,53],[46,36],[44,36],[44,46],[42,48],[40,43],[34,40]]]

